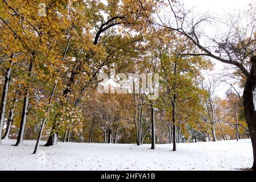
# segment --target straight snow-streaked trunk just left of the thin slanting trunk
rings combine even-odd
[[[31,78],[32,72],[33,72],[33,60],[30,61],[28,78]],[[20,144],[23,144],[25,126],[26,126],[26,122],[27,122],[28,102],[29,102],[29,96],[28,96],[28,86],[27,86],[25,88],[25,92],[24,92],[22,118],[20,121],[19,134],[18,134],[18,138],[17,138],[17,142],[16,142],[15,146],[19,146]]]

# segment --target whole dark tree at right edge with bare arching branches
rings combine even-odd
[[[169,12],[174,16],[174,21],[164,22],[159,17],[158,26],[164,27],[168,32],[177,32],[185,36],[199,50],[187,53],[190,56],[208,56],[221,61],[222,63],[233,65],[240,72],[245,80],[243,90],[243,109],[245,118],[249,126],[251,143],[253,145],[254,162],[253,169],[256,168],[256,113],[254,105],[255,90],[255,7],[250,5],[250,10],[238,13],[238,16],[232,15],[230,20],[224,24],[227,32],[218,35],[217,38],[208,39],[208,45],[205,46],[200,40],[202,35],[199,29],[205,26],[204,23],[213,22],[214,18],[208,14],[202,16],[192,16],[191,11],[186,11],[183,6],[174,5],[171,1],[167,2]],[[243,18],[246,17],[246,18]],[[215,19],[216,20],[216,19]],[[243,22],[243,23],[242,23]],[[213,46],[212,46],[213,45]]]

